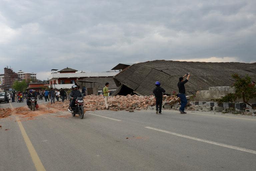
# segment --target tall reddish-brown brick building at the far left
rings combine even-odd
[[[17,73],[13,72],[11,68],[5,67],[4,68],[4,89],[10,90],[12,89],[12,85],[15,80],[18,80]]]

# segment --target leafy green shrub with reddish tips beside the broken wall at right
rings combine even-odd
[[[235,92],[228,93],[226,96],[214,100],[218,103],[229,103],[242,98],[244,103],[252,107],[248,101],[256,98],[256,87],[251,77],[248,75],[240,77],[238,74],[233,74],[231,76],[235,79],[233,86],[231,86],[235,88]]]

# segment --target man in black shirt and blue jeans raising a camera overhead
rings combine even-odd
[[[185,78],[187,76],[187,79],[184,81],[183,78]],[[181,101],[181,107],[179,109],[181,114],[185,114],[187,112],[184,112],[185,110],[185,106],[188,103],[187,98],[186,98],[186,90],[185,90],[185,86],[184,84],[186,84],[188,82],[188,79],[190,77],[190,73],[185,74],[183,77],[179,78],[179,82],[178,82],[178,88],[179,88],[179,94],[178,97],[180,98]]]

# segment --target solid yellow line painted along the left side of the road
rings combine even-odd
[[[13,109],[13,106],[12,106],[11,103],[10,103],[10,106]],[[28,138],[28,135],[27,135],[27,133],[26,133],[22,123],[20,122],[20,119],[19,119],[18,116],[16,116],[16,121],[17,121],[17,123],[18,123],[18,125],[20,127],[21,134],[22,134],[22,136],[24,138],[24,141],[25,141],[25,143],[27,145],[28,151],[29,151],[30,156],[32,158],[32,161],[33,161],[33,163],[34,163],[34,165],[36,167],[36,170],[37,171],[46,171],[44,166],[43,166],[43,164],[42,164],[42,162],[41,162],[41,160],[40,160],[40,158],[38,157],[38,155],[36,153],[36,150],[35,150],[33,144],[31,143],[30,139]]]

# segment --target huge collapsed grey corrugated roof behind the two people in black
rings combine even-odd
[[[209,87],[231,86],[231,74],[248,74],[256,80],[256,64],[238,62],[186,62],[155,60],[137,63],[114,76],[119,87],[125,85],[139,95],[152,95],[155,82],[160,81],[166,94],[178,92],[178,79],[190,72],[189,82],[185,84],[186,94],[195,94]],[[119,90],[120,92],[122,90]]]

